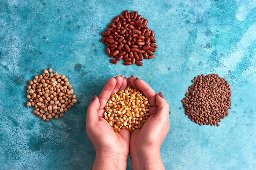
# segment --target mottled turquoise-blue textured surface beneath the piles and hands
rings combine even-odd
[[[126,9],[147,18],[156,34],[156,57],[142,67],[111,64],[100,42]],[[0,169],[89,170],[95,152],[86,109],[110,77],[122,74],[146,80],[170,104],[161,152],[167,170],[255,170],[255,49],[254,0],[0,0]],[[66,75],[79,100],[49,123],[25,106],[28,80],[45,68]],[[232,109],[220,127],[184,115],[180,101],[202,73],[230,82]]]

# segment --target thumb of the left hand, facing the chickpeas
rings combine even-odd
[[[88,106],[86,113],[86,124],[93,125],[99,121],[98,119],[98,110],[99,110],[99,98],[94,95],[91,104]]]

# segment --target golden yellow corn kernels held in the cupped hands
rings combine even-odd
[[[126,87],[112,94],[105,106],[105,119],[115,132],[127,129],[130,132],[142,128],[148,119],[148,99],[136,89]]]

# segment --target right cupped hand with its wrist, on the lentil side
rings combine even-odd
[[[130,158],[133,170],[164,170],[161,145],[169,131],[169,104],[162,93],[155,93],[141,79],[130,77],[128,86],[142,92],[150,104],[149,117],[141,129],[130,135]]]

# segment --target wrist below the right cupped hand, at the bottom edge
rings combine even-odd
[[[165,170],[160,148],[139,149],[130,152],[132,170]]]

